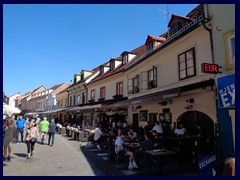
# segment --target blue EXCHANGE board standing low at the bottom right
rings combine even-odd
[[[207,154],[198,156],[199,173],[201,176],[216,176],[216,155]]]

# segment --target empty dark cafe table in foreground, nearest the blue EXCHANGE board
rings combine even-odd
[[[157,160],[159,165],[159,172],[162,174],[162,159],[166,157],[175,156],[177,153],[167,149],[155,149],[145,151],[147,155],[150,155],[152,160]]]

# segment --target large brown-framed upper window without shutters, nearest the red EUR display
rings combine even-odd
[[[178,55],[179,80],[196,76],[195,48]]]

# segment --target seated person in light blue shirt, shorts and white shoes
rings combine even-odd
[[[115,141],[115,152],[120,156],[121,155],[129,156],[128,169],[138,168],[135,161],[134,153],[131,151],[128,151],[127,149],[124,149],[123,147],[123,144],[124,144],[123,140],[126,138],[126,135],[127,135],[126,131],[122,130],[121,135]]]

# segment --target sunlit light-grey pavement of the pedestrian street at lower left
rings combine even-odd
[[[3,176],[104,176],[80,150],[80,142],[55,135],[53,147],[35,144],[33,156],[26,159],[25,143],[13,144],[11,161],[3,162]]]

